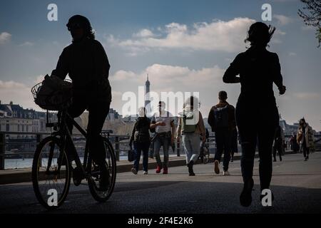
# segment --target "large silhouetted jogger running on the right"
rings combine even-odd
[[[250,26],[248,51],[238,54],[225,72],[225,83],[240,83],[241,92],[235,116],[242,145],[241,168],[244,181],[240,204],[250,206],[253,190],[253,165],[258,140],[261,191],[270,187],[272,178],[272,142],[279,125],[279,114],[273,93],[273,83],[285,93],[279,58],[266,50],[275,28],[257,22]],[[240,75],[239,77],[237,77]],[[261,196],[262,197],[262,196]]]

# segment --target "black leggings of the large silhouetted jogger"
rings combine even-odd
[[[279,124],[276,105],[256,106],[255,102],[236,105],[235,117],[242,145],[241,170],[244,182],[253,177],[255,149],[260,156],[260,186],[268,189],[272,179],[272,144]]]

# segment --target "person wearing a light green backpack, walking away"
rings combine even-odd
[[[200,135],[202,142],[206,140],[203,116],[198,108],[198,98],[191,96],[185,101],[183,112],[178,114],[177,141],[180,143],[180,135],[182,135],[186,165],[190,176],[195,176],[193,165],[200,155]]]

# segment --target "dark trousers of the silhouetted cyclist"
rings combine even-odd
[[[97,102],[91,100],[88,102],[86,96],[73,97],[73,103],[68,108],[68,114],[72,118],[76,118],[81,115],[86,109],[88,109],[88,125],[87,125],[87,143],[89,145],[89,153],[93,158],[93,161],[97,164],[101,164],[106,160],[106,152],[101,138],[101,129],[103,123],[109,113],[111,103],[108,101]],[[67,121],[68,129],[72,133],[73,125],[71,121]],[[66,151],[68,154],[76,152],[70,140],[67,140]]]

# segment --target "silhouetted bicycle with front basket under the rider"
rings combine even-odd
[[[41,83],[39,83],[41,84]],[[34,86],[32,93],[36,97],[39,92],[39,84]],[[60,109],[61,115],[57,123],[49,121],[49,110],[46,110],[46,127],[54,128],[53,133],[39,142],[34,154],[32,164],[32,183],[36,198],[41,205],[47,209],[55,209],[61,206],[65,201],[69,187],[71,185],[71,175],[74,185],[81,185],[82,180],[87,180],[91,195],[98,202],[106,202],[111,197],[116,182],[116,156],[113,145],[109,140],[112,131],[102,131],[101,138],[106,152],[105,165],[108,172],[108,189],[101,189],[101,171],[99,166],[92,160],[88,151],[86,140],[83,163],[75,153],[74,167],[66,152],[66,142],[70,140],[76,151],[76,147],[71,138],[71,133],[66,125],[66,120],[70,120],[73,126],[79,130],[86,139],[88,135],[78,123],[68,114],[68,103],[64,103]]]

